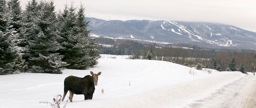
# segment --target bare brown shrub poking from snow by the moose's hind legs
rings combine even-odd
[[[59,106],[61,104],[61,100],[62,100],[62,96],[58,94],[56,97],[53,98],[53,103],[50,103],[50,102],[39,102],[39,103],[44,103],[44,104],[47,104],[47,105],[51,105],[52,108],[61,108]],[[68,100],[66,101],[63,108],[66,108],[67,103],[68,103]]]

